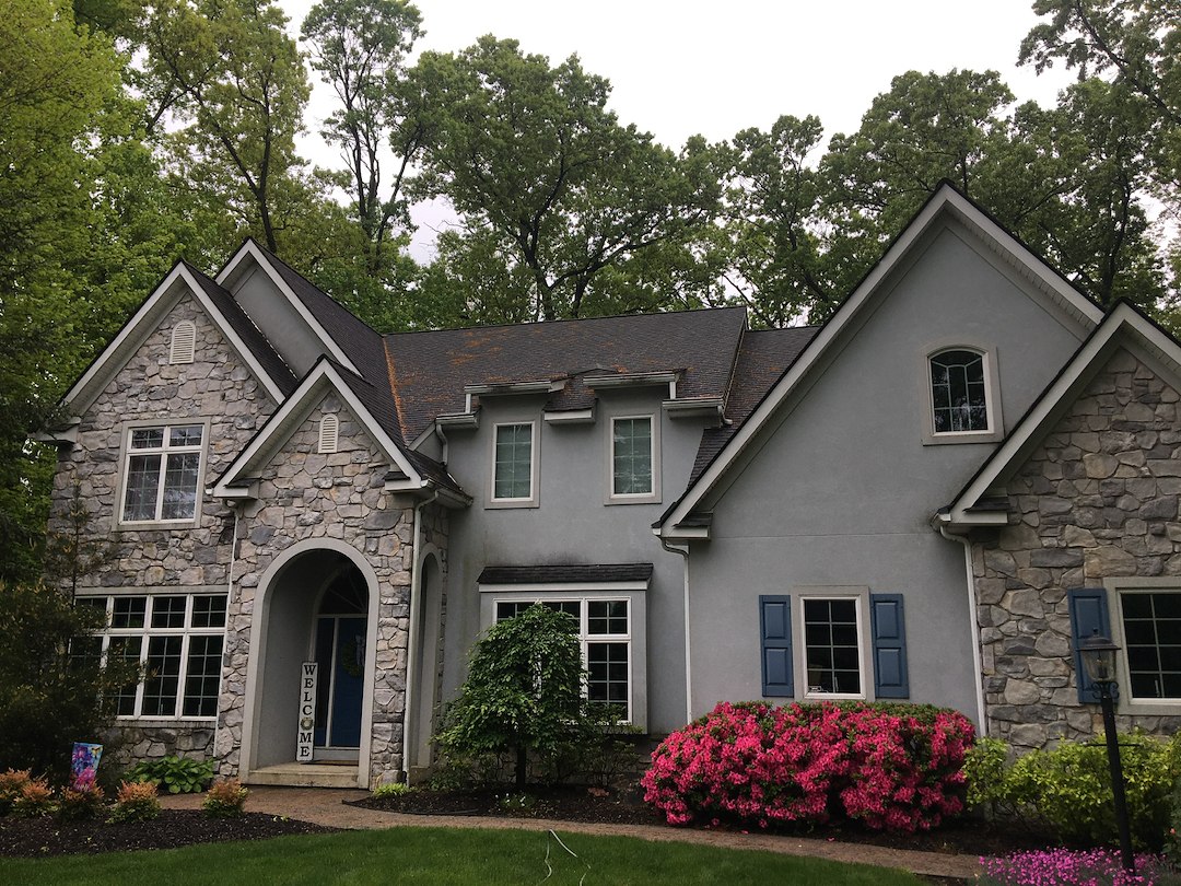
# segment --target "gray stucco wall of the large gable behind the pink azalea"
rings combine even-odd
[[[926,358],[990,350],[1011,423],[1082,332],[976,243],[958,227],[932,233],[702,508],[715,517],[712,540],[692,546],[694,712],[759,697],[759,594],[857,586],[905,595],[911,699],[976,718],[964,548],[929,520],[994,443],[925,444]]]

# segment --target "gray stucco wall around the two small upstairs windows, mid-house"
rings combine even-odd
[[[651,525],[685,488],[703,424],[670,419],[667,386],[602,390],[593,424],[548,425],[542,396],[484,397],[478,430],[449,431],[450,469],[475,497],[451,520],[444,696],[466,673],[481,631],[477,579],[485,566],[651,562],[647,592],[647,725],[684,725],[683,560],[665,552]],[[652,415],[660,429],[660,502],[607,504],[612,416]],[[492,434],[497,423],[533,421],[541,434],[539,507],[489,508]]]

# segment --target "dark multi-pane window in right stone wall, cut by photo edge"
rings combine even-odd
[[[1181,698],[1181,593],[1124,592],[1120,607],[1131,697]]]

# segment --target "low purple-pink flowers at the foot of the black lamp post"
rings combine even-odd
[[[1168,867],[1155,855],[1136,855],[1135,873],[1110,849],[1044,849],[983,858],[981,886],[1153,886],[1172,882]]]

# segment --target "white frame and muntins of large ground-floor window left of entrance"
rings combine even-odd
[[[151,615],[155,611],[154,601],[156,598],[164,597],[183,597],[184,600],[184,624],[181,627],[152,627]],[[194,612],[194,600],[198,597],[220,597],[226,600],[226,620],[221,627],[195,627],[193,625],[193,612]],[[144,625],[143,627],[112,627],[111,615],[115,610],[115,601],[118,599],[133,599],[133,598],[148,598],[144,606]],[[226,594],[226,588],[221,586],[198,586],[198,587],[152,587],[152,588],[133,588],[130,592],[119,593],[89,593],[85,591],[79,591],[79,600],[105,600],[105,627],[93,634],[102,639],[100,654],[105,659],[109,654],[111,640],[113,638],[141,638],[139,644],[139,663],[145,665],[148,660],[148,651],[150,649],[150,641],[159,637],[181,637],[181,662],[180,667],[176,673],[176,693],[174,701],[176,703],[175,714],[143,714],[144,703],[144,689],[148,683],[146,675],[144,679],[136,683],[135,691],[135,711],[133,714],[119,714],[116,716],[116,722],[119,723],[148,723],[148,722],[159,722],[159,723],[214,723],[217,721],[220,709],[221,709],[221,695],[222,684],[224,680],[224,660],[226,660],[226,637],[229,630],[229,599]],[[198,716],[187,716],[184,714],[184,702],[185,702],[185,682],[188,680],[188,669],[189,669],[189,654],[191,649],[191,640],[194,637],[218,637],[222,643],[220,658],[220,665],[217,667],[217,690],[214,695],[216,699],[216,705],[214,714],[198,715]]]

